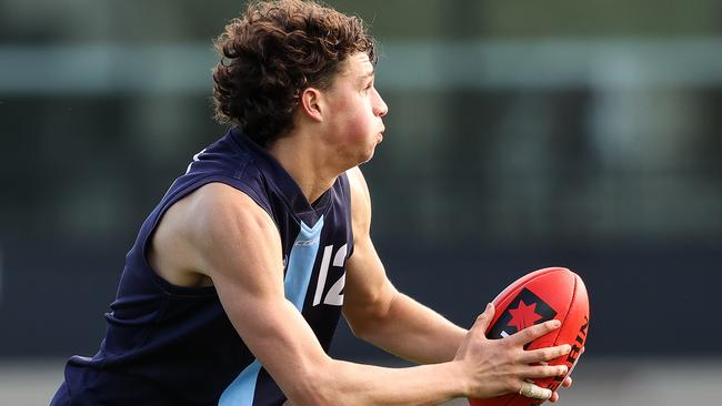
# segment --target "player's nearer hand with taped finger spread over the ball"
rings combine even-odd
[[[556,328],[561,323],[552,319],[524,328],[509,337],[501,339],[489,339],[485,331],[494,317],[494,305],[489,304],[484,313],[477,317],[467,337],[461,343],[455,362],[459,362],[463,369],[463,377],[467,378],[467,397],[489,398],[510,393],[519,394],[524,386],[524,392],[530,389],[534,398],[550,399],[552,392],[529,384],[527,379],[549,378],[566,374],[565,365],[538,365],[539,363],[569,354],[571,346],[568,344],[525,351],[524,345]],[[532,365],[537,364],[537,365]]]

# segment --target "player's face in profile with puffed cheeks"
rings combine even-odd
[[[383,140],[383,121],[389,108],[374,88],[373,64],[365,53],[349,57],[328,97],[329,138],[338,156],[350,166],[369,161]]]

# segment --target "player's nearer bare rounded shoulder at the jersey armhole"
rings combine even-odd
[[[173,284],[209,285],[219,268],[217,258],[260,242],[273,248],[274,241],[280,246],[273,221],[251,197],[209,183],[167,211],[153,234],[149,262]]]

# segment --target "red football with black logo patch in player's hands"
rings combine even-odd
[[[569,355],[549,363],[564,364],[571,373],[589,333],[589,297],[579,275],[563,267],[534,271],[509,285],[493,303],[497,313],[487,329],[489,338],[502,338],[552,318],[561,321],[561,327],[534,339],[527,345],[527,349],[571,345]],[[555,390],[563,378],[534,379],[534,383]],[[469,403],[471,406],[530,406],[542,402],[511,394],[490,399],[469,399]]]

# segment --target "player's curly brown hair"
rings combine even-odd
[[[365,52],[377,62],[363,21],[315,1],[251,1],[214,44],[215,120],[262,146],[292,128],[303,90],[329,89],[349,55]]]

